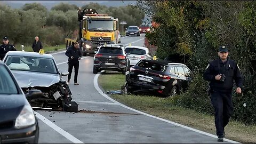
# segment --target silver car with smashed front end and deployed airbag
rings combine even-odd
[[[36,97],[27,97],[32,107],[62,109],[71,98],[71,91],[51,54],[8,52],[3,60],[12,70],[25,94],[41,90]]]

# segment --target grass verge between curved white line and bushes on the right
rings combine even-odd
[[[109,91],[121,90],[121,86],[124,85],[125,80],[122,74],[103,74],[100,75],[98,82],[105,91]],[[215,135],[213,116],[182,107],[176,107],[172,105],[172,98],[133,94],[111,95],[110,97],[126,106],[143,111],[147,114],[168,119],[172,122]],[[244,125],[231,120],[225,127],[225,132],[225,138],[227,139],[243,143],[256,142],[255,125]]]

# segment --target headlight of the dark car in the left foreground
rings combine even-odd
[[[16,118],[15,127],[18,129],[27,127],[36,123],[36,118],[33,109],[30,105],[25,105],[21,110],[19,116]]]

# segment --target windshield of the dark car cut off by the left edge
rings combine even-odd
[[[0,67],[0,94],[18,94],[13,78],[4,65]]]

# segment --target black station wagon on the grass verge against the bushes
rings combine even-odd
[[[142,59],[130,68],[127,91],[156,91],[168,97],[187,89],[191,81],[190,73],[182,63]]]

